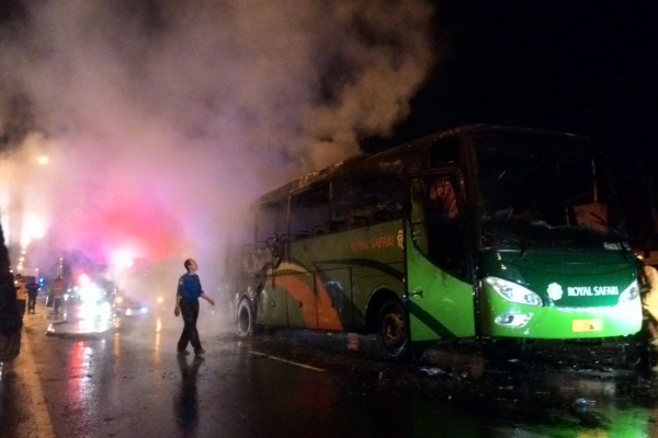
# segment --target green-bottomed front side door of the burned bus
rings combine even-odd
[[[468,283],[464,192],[456,173],[413,176],[406,220],[407,298],[411,339],[475,335]]]

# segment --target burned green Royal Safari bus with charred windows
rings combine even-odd
[[[238,330],[376,335],[390,358],[474,339],[642,326],[637,267],[583,137],[466,126],[292,181],[254,204]]]

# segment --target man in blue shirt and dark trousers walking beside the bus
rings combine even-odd
[[[192,344],[195,355],[201,355],[205,350],[201,347],[201,339],[198,338],[198,331],[196,330],[196,320],[198,319],[198,298],[203,298],[211,306],[215,306],[215,300],[206,296],[201,287],[201,280],[196,270],[198,266],[194,258],[188,258],[183,264],[188,270],[179,279],[178,289],[175,292],[175,309],[173,314],[178,316],[183,315],[183,333],[178,342],[179,355],[186,355],[188,343]]]

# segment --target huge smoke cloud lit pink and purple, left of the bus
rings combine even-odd
[[[174,277],[195,256],[209,290],[248,201],[390,134],[435,62],[420,0],[13,12],[0,28],[0,122],[26,135],[1,162],[11,245],[33,258],[121,247],[177,261]]]

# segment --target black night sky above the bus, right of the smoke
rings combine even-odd
[[[490,123],[589,135],[625,165],[658,157],[658,2],[435,4],[449,53],[390,142]]]

